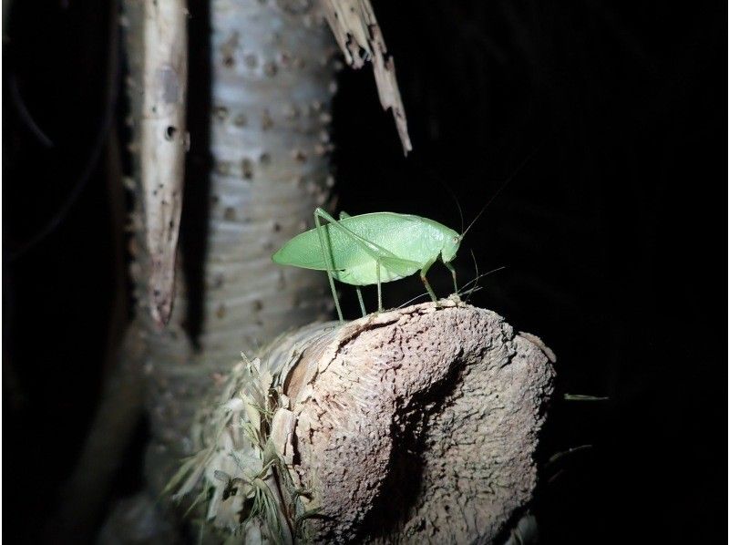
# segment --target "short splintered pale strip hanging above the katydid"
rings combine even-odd
[[[370,1],[322,0],[322,7],[347,64],[361,68],[366,61],[372,61],[380,103],[385,110],[392,109],[397,132],[407,155],[413,146],[407,134],[405,108],[395,78],[395,61],[387,55],[385,38],[377,25]]]

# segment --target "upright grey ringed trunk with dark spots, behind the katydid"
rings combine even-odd
[[[323,275],[276,267],[271,253],[311,223],[313,209],[328,201],[333,182],[328,124],[335,47],[323,16],[309,3],[210,2],[212,169],[208,188],[205,180],[186,181],[201,185],[191,192],[202,197],[185,203],[209,208],[202,214],[203,224],[186,229],[187,242],[204,241],[204,252],[196,256],[201,262],[191,262],[194,258],[186,254],[183,241],[175,304],[169,324],[160,330],[149,312],[147,293],[155,265],[145,241],[139,182],[139,120],[145,104],[139,85],[144,67],[139,40],[145,4],[126,0],[124,8],[130,149],[136,172],[131,272],[136,320],[146,345],[145,397],[152,434],[146,474],[149,493],[157,497],[180,459],[190,455],[190,421],[197,403],[220,386],[221,374],[241,350],[253,350],[282,331],[331,313],[331,303],[323,296]],[[190,87],[196,85],[209,82],[190,81]],[[193,154],[207,155],[195,149],[194,134],[190,146]],[[202,293],[189,288],[190,271],[200,274]],[[128,526],[133,516],[133,506],[125,509],[126,514],[117,517],[120,526]]]

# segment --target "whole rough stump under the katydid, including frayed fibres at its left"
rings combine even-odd
[[[276,524],[241,520],[246,488],[223,499],[229,483],[211,477],[250,482],[270,444],[297,490],[280,510],[305,519],[309,539],[493,542],[535,488],[554,370],[536,337],[498,314],[441,305],[312,324],[276,341],[254,373],[235,367],[182,492],[202,477],[212,526],[275,536]],[[262,424],[246,407],[266,399],[277,401]]]

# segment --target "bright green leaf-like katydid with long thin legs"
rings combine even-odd
[[[328,221],[322,225],[320,218]],[[326,271],[340,321],[344,321],[334,279],[356,287],[362,314],[366,315],[360,286],[377,285],[377,309],[382,312],[382,283],[393,282],[420,271],[427,293],[437,302],[427,282],[428,269],[438,258],[453,275],[450,263],[466,234],[437,221],[395,212],[373,212],[359,216],[341,214],[339,221],[317,208],[316,227],[296,235],[272,256],[273,262],[304,269]]]

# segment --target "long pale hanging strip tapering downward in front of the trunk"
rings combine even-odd
[[[157,324],[167,324],[174,301],[188,144],[186,0],[144,3],[143,47],[140,168],[145,240],[151,261],[149,310]]]

